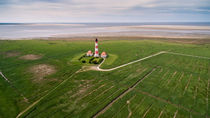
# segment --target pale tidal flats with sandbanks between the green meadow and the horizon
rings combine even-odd
[[[49,25],[49,27],[48,27]],[[73,24],[74,25],[74,24]],[[210,26],[188,26],[188,25],[119,25],[119,26],[93,26],[82,27],[72,24],[62,24],[64,27],[56,29],[56,24],[35,24],[38,29],[25,27],[15,29],[14,34],[0,33],[0,40],[34,40],[34,39],[63,39],[63,38],[91,38],[91,37],[144,37],[144,38],[184,38],[184,39],[209,39]],[[27,25],[26,25],[27,26]],[[29,25],[30,26],[30,25]],[[47,29],[45,29],[47,26]],[[52,27],[53,26],[53,27]],[[77,27],[78,26],[78,27]],[[51,28],[52,27],[52,28]],[[75,32],[72,27],[77,27]],[[1,28],[1,27],[0,27]],[[2,27],[3,28],[3,27]],[[11,27],[10,27],[11,28]],[[16,30],[18,32],[16,32]],[[8,32],[10,32],[8,30]],[[1,36],[2,35],[2,36]]]

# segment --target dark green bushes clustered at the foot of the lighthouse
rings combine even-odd
[[[103,61],[103,58],[101,57],[88,57],[86,55],[83,55],[78,59],[81,63],[88,63],[88,64],[100,64]]]

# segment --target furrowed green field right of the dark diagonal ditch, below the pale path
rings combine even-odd
[[[169,56],[170,57],[170,56]],[[126,105],[127,100],[134,96],[136,101],[141,101],[144,97],[145,100],[143,104],[139,105],[138,102],[131,102],[131,111],[133,111],[133,117],[143,116],[146,113],[146,110],[150,105],[152,105],[152,109],[150,110],[149,114],[150,117],[154,117],[155,115],[160,114],[160,112],[165,109],[166,111],[163,113],[164,117],[170,117],[174,115],[175,111],[178,110],[179,117],[205,117],[206,114],[209,114],[206,101],[206,97],[208,92],[207,91],[207,84],[208,84],[208,74],[209,71],[190,71],[192,68],[189,68],[191,65],[186,64],[184,61],[180,63],[180,61],[176,58],[167,58],[166,55],[155,57],[161,58],[162,60],[176,65],[172,65],[172,67],[159,65],[161,68],[157,69],[150,75],[147,79],[145,79],[141,84],[139,84],[135,90],[130,92],[127,96],[121,98],[116,102],[107,112],[105,112],[101,117],[121,117],[121,116],[128,116],[128,108]],[[157,59],[155,59],[155,63],[158,63]],[[186,59],[187,57],[179,57],[182,59]],[[170,60],[170,61],[169,61]],[[203,62],[203,64],[209,67],[209,60],[200,60],[200,59],[188,59],[193,65],[193,61]],[[151,63],[150,61],[148,61]],[[143,63],[148,63],[143,62]],[[199,63],[200,64],[200,63]],[[171,64],[169,64],[171,65]],[[179,66],[187,66],[184,70],[179,70]],[[199,67],[199,65],[194,65]],[[208,68],[202,68],[207,69]],[[200,70],[200,69],[198,69]],[[183,76],[182,76],[183,75]],[[202,77],[201,77],[202,76]],[[182,79],[180,79],[182,77]],[[202,78],[199,80],[199,78]],[[197,90],[196,90],[197,89]],[[196,91],[196,92],[195,92]],[[133,94],[133,95],[130,95]],[[141,97],[140,97],[141,96]],[[133,99],[133,101],[135,101]],[[125,105],[125,109],[119,111]],[[138,106],[139,105],[139,106]],[[164,108],[165,106],[171,106],[174,110],[170,110],[168,108]],[[133,106],[133,109],[132,109]],[[114,110],[113,110],[114,109]],[[188,111],[189,110],[189,111]],[[116,114],[117,113],[117,114]],[[123,115],[127,114],[127,115]],[[177,117],[178,117],[177,116]],[[157,117],[157,116],[156,116]]]

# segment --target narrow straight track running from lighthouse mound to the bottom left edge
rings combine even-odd
[[[81,69],[79,69],[78,71],[76,71],[75,73],[73,73],[68,79],[65,79],[63,82],[61,82],[59,85],[57,85],[55,88],[53,88],[52,90],[50,90],[47,94],[45,94],[44,96],[42,96],[40,99],[38,99],[37,101],[35,101],[34,103],[32,103],[31,105],[29,105],[25,110],[23,110],[22,112],[20,112],[16,118],[20,118],[24,113],[26,113],[28,110],[30,110],[31,108],[33,108],[36,104],[38,104],[41,100],[43,100],[46,96],[48,96],[49,94],[51,94],[53,91],[55,91],[58,87],[60,87],[61,85],[63,85],[64,83],[66,83],[70,78],[72,78],[75,74],[79,73],[81,71]]]

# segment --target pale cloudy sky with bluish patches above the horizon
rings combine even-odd
[[[208,22],[210,0],[0,0],[0,22]]]

